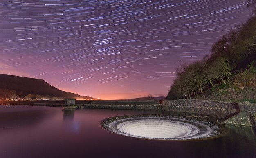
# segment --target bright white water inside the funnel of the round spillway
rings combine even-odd
[[[157,119],[125,121],[118,124],[117,129],[126,134],[144,138],[180,138],[194,135],[200,130],[189,123]],[[209,133],[211,133],[210,128],[207,134]]]

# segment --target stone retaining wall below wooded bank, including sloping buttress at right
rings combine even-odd
[[[162,110],[222,118],[221,124],[256,127],[256,104],[210,100],[163,100]]]

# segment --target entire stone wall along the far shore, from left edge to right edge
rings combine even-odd
[[[256,104],[235,103],[210,100],[163,100],[158,101],[92,101],[66,99],[65,101],[0,101],[0,105],[36,105],[56,106],[67,108],[97,108],[97,109],[121,109],[121,110],[163,110],[163,114],[170,115],[201,115],[212,116],[212,120],[223,121],[227,125],[243,125],[256,127]],[[182,112],[182,113],[180,113]]]

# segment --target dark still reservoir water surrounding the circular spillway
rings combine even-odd
[[[0,106],[0,158],[256,157],[256,130],[228,126],[226,136],[196,141],[146,140],[101,128],[100,121],[159,111]]]

